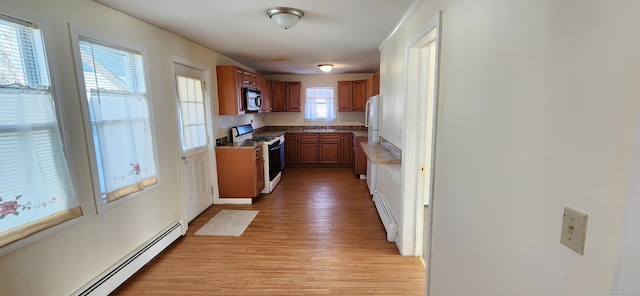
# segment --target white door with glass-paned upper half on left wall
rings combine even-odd
[[[185,219],[190,222],[213,204],[209,141],[211,118],[205,81],[208,72],[174,62],[180,138],[180,175]]]

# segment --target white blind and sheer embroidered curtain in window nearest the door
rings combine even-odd
[[[103,204],[157,182],[144,68],[139,52],[79,43]]]

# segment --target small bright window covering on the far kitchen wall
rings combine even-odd
[[[333,87],[307,88],[307,100],[304,106],[305,120],[336,120],[336,107]]]

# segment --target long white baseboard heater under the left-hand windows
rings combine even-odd
[[[162,250],[182,236],[182,225],[173,222],[128,256],[80,288],[73,296],[109,295]]]

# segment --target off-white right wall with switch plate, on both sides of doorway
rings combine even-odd
[[[425,0],[381,51],[381,136],[403,153],[406,47],[439,10],[431,295],[604,295],[631,187],[640,2]],[[559,243],[565,205],[589,214],[582,256]]]

